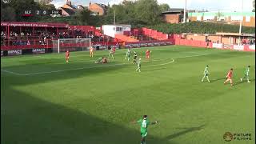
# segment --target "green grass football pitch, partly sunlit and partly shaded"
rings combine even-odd
[[[152,51],[146,60],[145,51]],[[142,58],[135,70],[133,52]],[[255,53],[159,46],[109,51],[34,54],[1,58],[1,143],[139,144],[147,114],[147,144],[255,142]],[[201,82],[209,65],[210,83]],[[240,78],[250,65],[250,83]],[[224,85],[234,69],[234,86]],[[226,142],[223,134],[251,134]]]

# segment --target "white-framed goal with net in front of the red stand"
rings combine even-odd
[[[90,46],[90,38],[63,38],[53,41],[53,52],[83,51],[89,50]]]

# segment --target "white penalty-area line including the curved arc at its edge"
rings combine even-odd
[[[208,55],[208,54],[198,54],[198,55],[190,55],[190,56],[184,56],[184,57],[177,57],[177,58],[172,58],[171,62],[166,62],[166,63],[162,63],[162,64],[155,64],[155,65],[146,65],[146,66],[162,66],[162,65],[167,65],[167,64],[170,64],[170,63],[174,62],[174,59],[198,57],[198,56],[202,56],[202,55]],[[156,60],[156,61],[158,61],[158,60]],[[20,76],[28,76],[28,75],[35,75],[35,74],[51,74],[51,73],[58,73],[58,72],[70,71],[70,70],[83,70],[83,69],[101,68],[101,67],[109,67],[109,66],[122,66],[122,65],[127,65],[127,64],[129,64],[129,63],[120,63],[120,64],[106,65],[106,66],[89,66],[89,67],[86,66],[86,67],[78,67],[78,68],[74,68],[74,69],[53,70],[53,71],[30,73],[30,74],[18,74],[16,72],[12,72],[12,71],[9,71],[9,70],[2,70],[2,69],[1,69],[1,71],[4,71],[6,73],[10,73],[10,74],[20,75]]]

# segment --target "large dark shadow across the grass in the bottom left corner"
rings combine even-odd
[[[2,86],[2,85],[1,85]],[[8,93],[10,94],[8,94]],[[64,98],[65,99],[65,98]],[[64,100],[63,99],[63,100]],[[72,98],[71,98],[72,100]],[[65,103],[65,101],[63,101]],[[72,103],[72,102],[71,102]],[[140,142],[139,125],[137,130],[124,124],[111,122],[101,114],[120,117],[128,125],[127,114],[118,114],[115,107],[106,107],[100,102],[88,99],[75,104],[64,105],[50,98],[14,90],[5,86],[1,91],[1,143],[19,144],[133,144]],[[11,107],[11,108],[10,108]],[[86,113],[94,109],[94,114]],[[113,111],[112,113],[109,113]],[[128,114],[129,115],[129,114]],[[148,135],[148,143],[175,144],[164,138]]]

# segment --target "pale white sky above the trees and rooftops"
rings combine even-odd
[[[110,5],[118,4],[123,0],[71,0],[74,5],[82,4],[82,6],[88,6],[89,2],[103,3]],[[158,0],[159,4],[167,3],[170,8],[184,8],[186,0]],[[243,11],[253,10],[253,0],[187,0],[186,8],[188,10],[227,10],[227,11],[239,11],[242,8]],[[53,0],[54,6],[63,6],[66,0]]]

